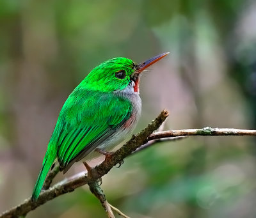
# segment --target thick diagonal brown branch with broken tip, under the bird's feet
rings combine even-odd
[[[86,175],[72,176],[72,178],[62,180],[60,183],[57,183],[50,189],[43,191],[35,203],[31,201],[31,198],[28,198],[21,205],[15,206],[14,208],[1,214],[0,218],[20,217],[22,215],[26,215],[28,212],[35,210],[35,208],[43,205],[47,201],[50,201],[51,199],[54,199],[67,192],[72,192],[77,187],[88,184],[88,182],[94,182],[95,180],[106,175],[112,167],[121,162],[125,157],[130,155],[142,144],[147,143],[148,136],[150,136],[154,130],[157,130],[157,128],[160,127],[167,117],[168,112],[165,110],[162,111],[156,120],[152,121],[147,128],[142,130],[138,135],[132,136],[127,143],[113,153],[113,155],[108,159],[108,162],[104,161],[99,164],[99,166],[92,168],[90,180]]]

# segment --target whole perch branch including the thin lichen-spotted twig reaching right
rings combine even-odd
[[[256,130],[241,130],[234,128],[211,128],[205,127],[202,129],[187,129],[187,130],[169,130],[163,132],[154,132],[161,123],[167,118],[168,112],[162,111],[161,114],[148,125],[147,128],[142,130],[138,135],[132,136],[124,146],[118,149],[113,155],[104,161],[99,166],[92,168],[91,176],[92,178],[88,179],[86,175],[77,174],[71,178],[62,180],[57,183],[50,189],[43,191],[38,198],[36,203],[31,202],[31,199],[26,199],[24,203],[19,206],[15,206],[11,210],[8,210],[0,215],[0,218],[10,218],[10,217],[19,217],[21,215],[28,214],[29,211],[35,210],[40,205],[43,205],[47,201],[54,199],[62,194],[67,192],[74,191],[77,187],[88,184],[88,182],[95,182],[95,180],[106,175],[109,170],[114,167],[116,164],[121,162],[125,157],[131,155],[132,152],[136,151],[143,144],[148,143],[148,141],[154,140],[157,142],[159,139],[170,138],[170,140],[175,139],[175,137],[180,136],[256,136]],[[172,138],[174,137],[174,138]],[[152,144],[149,144],[146,147],[149,147]],[[137,152],[137,151],[136,151]]]

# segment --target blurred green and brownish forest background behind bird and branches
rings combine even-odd
[[[31,196],[58,113],[102,61],[171,54],[141,80],[136,132],[256,125],[256,2],[0,1],[0,211]],[[255,137],[157,144],[104,176],[131,217],[255,217]],[[83,171],[75,164],[67,175]],[[106,217],[84,186],[27,217]]]

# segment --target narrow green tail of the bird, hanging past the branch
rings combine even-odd
[[[56,159],[56,155],[55,154],[53,155],[52,152],[49,152],[49,148],[48,148],[47,152],[45,153],[42,168],[40,170],[40,173],[38,175],[38,178],[36,180],[36,184],[33,190],[32,198],[31,198],[33,202],[35,202],[38,199],[40,192],[42,190],[42,187],[44,185],[44,181],[47,176],[47,173],[51,168],[55,159]]]

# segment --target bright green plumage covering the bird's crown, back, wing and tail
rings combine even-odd
[[[70,94],[61,109],[32,194],[35,201],[56,158],[64,173],[114,134],[132,112],[131,102],[115,95],[131,82],[134,63],[127,58],[110,59],[97,66]],[[125,70],[120,80],[115,72]]]

